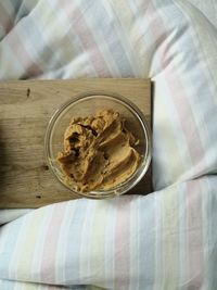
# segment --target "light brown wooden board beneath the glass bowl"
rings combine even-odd
[[[40,207],[76,199],[44,161],[44,134],[56,109],[77,93],[106,90],[132,101],[151,123],[151,81],[139,78],[0,83],[0,207]],[[152,191],[149,173],[129,193]]]

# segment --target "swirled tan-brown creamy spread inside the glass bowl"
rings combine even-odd
[[[58,161],[65,180],[77,191],[108,190],[126,181],[138,168],[138,144],[118,112],[73,118],[64,134]]]

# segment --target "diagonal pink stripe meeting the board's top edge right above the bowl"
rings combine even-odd
[[[64,9],[66,16],[72,23],[73,29],[76,30],[76,34],[79,37],[80,42],[82,43],[85,52],[89,55],[99,77],[112,76],[103,58],[103,54],[99,49],[99,43],[97,43],[93,38],[93,31],[86,22],[85,14],[80,11],[79,8],[68,8],[68,1],[66,1],[65,3],[61,2],[60,8]]]

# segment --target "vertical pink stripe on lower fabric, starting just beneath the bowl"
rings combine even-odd
[[[132,197],[120,199],[117,204],[115,227],[115,287],[124,290],[129,286],[130,276],[130,201]]]

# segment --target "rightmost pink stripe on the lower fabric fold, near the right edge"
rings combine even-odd
[[[199,180],[190,181],[187,194],[189,239],[189,289],[201,289],[203,285],[203,219],[202,196]]]

